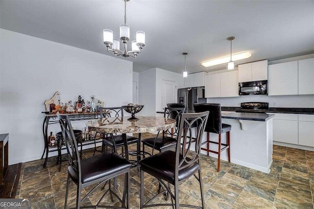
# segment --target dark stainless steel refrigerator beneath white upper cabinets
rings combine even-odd
[[[183,103],[187,111],[194,111],[194,103],[206,103],[204,96],[205,87],[203,86],[178,89],[178,102]]]

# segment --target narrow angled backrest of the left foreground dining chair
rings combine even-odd
[[[69,165],[72,166],[72,168],[78,172],[79,181],[80,181],[81,174],[80,174],[80,159],[79,159],[79,153],[78,153],[78,144],[77,144],[77,140],[75,138],[75,135],[71,126],[69,115],[59,114],[59,112],[57,112],[57,116],[59,119],[59,124],[61,127],[61,132],[64,139],[64,143],[66,145],[67,152],[68,152]]]

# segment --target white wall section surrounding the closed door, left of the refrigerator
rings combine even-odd
[[[184,80],[182,74],[174,73],[156,68],[156,111],[162,111],[161,104],[161,81],[162,79],[175,81],[177,83],[177,93],[179,88],[184,88]],[[178,98],[175,98],[177,101]],[[159,115],[157,115],[159,116]]]

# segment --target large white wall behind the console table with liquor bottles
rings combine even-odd
[[[0,29],[0,133],[9,133],[9,164],[44,150],[44,101],[91,95],[106,106],[132,101],[132,62]],[[104,49],[105,51],[105,49]],[[85,122],[73,122],[80,129]],[[54,133],[60,128],[51,126]]]

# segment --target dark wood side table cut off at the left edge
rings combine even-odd
[[[3,155],[4,154],[4,155]],[[3,178],[8,170],[9,134],[0,134],[0,185],[3,185]]]

